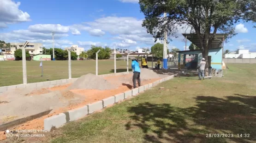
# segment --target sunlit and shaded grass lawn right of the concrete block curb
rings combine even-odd
[[[45,138],[5,142],[256,143],[256,64],[228,66],[222,78],[175,77]]]

